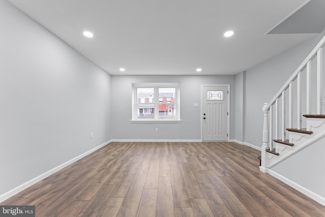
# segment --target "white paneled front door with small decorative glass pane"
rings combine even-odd
[[[228,85],[202,86],[202,139],[228,141]]]

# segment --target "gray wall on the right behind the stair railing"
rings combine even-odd
[[[262,146],[263,104],[272,100],[324,34],[323,31],[310,40],[246,71],[245,142]]]

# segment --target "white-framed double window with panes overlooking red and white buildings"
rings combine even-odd
[[[133,83],[132,121],[179,122],[177,83]]]

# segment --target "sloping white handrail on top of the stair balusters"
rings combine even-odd
[[[305,58],[303,63],[298,67],[293,75],[285,82],[285,84],[281,87],[281,89],[277,92],[277,94],[272,98],[272,100],[268,103],[268,105],[264,108],[265,110],[269,110],[270,107],[275,103],[276,99],[282,95],[282,92],[289,87],[291,81],[294,81],[297,78],[299,72],[303,71],[306,66],[307,62],[310,59],[313,59],[317,55],[317,50],[325,45],[325,36],[319,41],[316,47],[309,53],[309,55]]]

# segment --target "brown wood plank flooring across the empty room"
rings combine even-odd
[[[113,142],[1,205],[37,216],[325,216],[232,142]]]

